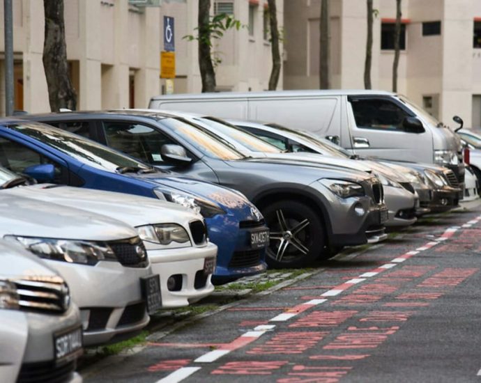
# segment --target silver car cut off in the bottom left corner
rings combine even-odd
[[[79,310],[63,278],[0,241],[0,382],[82,383]]]

